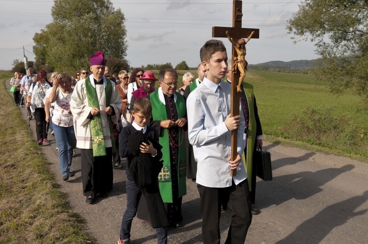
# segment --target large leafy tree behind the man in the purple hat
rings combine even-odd
[[[88,67],[89,56],[96,51],[103,51],[106,58],[126,56],[125,17],[110,0],[54,0],[52,17],[53,22],[33,37],[40,63],[74,73]]]

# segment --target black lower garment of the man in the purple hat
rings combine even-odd
[[[80,149],[83,195],[107,193],[112,190],[112,147],[105,156],[93,156],[92,149]]]

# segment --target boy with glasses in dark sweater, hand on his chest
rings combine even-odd
[[[147,98],[138,98],[132,110],[134,122],[120,133],[119,154],[127,157],[127,209],[123,215],[119,244],[131,243],[131,223],[143,195],[151,225],[156,229],[158,244],[167,244],[168,220],[158,189],[158,173],[162,168],[161,146],[158,133],[150,122],[152,106]],[[142,162],[142,163],[140,163]],[[140,168],[143,164],[143,169]]]

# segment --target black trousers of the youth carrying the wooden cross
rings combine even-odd
[[[197,184],[201,197],[202,236],[204,244],[220,244],[221,203],[228,199],[228,208],[233,213],[225,244],[244,244],[252,221],[248,181],[226,188],[211,188]],[[216,204],[217,203],[217,204]]]

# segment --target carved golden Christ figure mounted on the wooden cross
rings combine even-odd
[[[254,31],[250,33],[247,39],[239,39],[237,43],[231,39],[229,31],[226,31],[225,33],[237,51],[237,57],[233,57],[233,67],[231,68],[231,72],[237,73],[237,70],[240,72],[239,82],[237,83],[237,91],[241,92],[240,86],[243,83],[245,71],[248,67],[248,62],[245,60],[245,55],[247,54],[245,44],[247,44],[247,42],[249,42],[249,40],[252,38]]]

